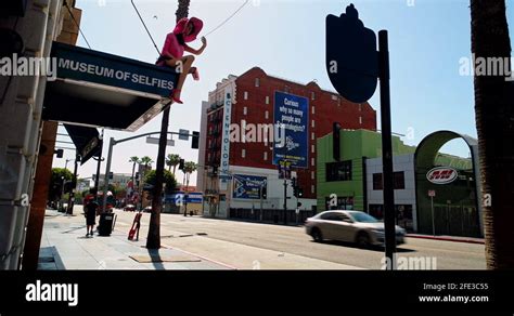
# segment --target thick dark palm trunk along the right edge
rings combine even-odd
[[[471,0],[471,17],[474,56],[486,60],[500,57],[504,63],[510,63],[511,41],[505,1]],[[514,82],[505,80],[507,74],[483,76],[484,74],[477,73],[475,71],[475,114],[484,197],[487,267],[512,269],[514,268],[514,229],[512,229]]]

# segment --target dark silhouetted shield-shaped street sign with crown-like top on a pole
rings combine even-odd
[[[363,103],[375,93],[376,36],[364,27],[354,4],[346,14],[326,16],[326,70],[332,85],[348,101]]]

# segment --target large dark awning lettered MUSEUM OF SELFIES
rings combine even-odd
[[[136,131],[157,116],[178,74],[171,68],[54,42],[43,119]]]

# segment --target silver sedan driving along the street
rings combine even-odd
[[[357,242],[360,247],[383,246],[384,223],[360,211],[335,210],[307,219],[306,233],[314,241],[324,239]],[[406,231],[396,226],[397,245],[404,243]]]

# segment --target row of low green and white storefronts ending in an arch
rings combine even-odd
[[[476,140],[448,131],[427,136],[417,147],[393,136],[396,219],[408,232],[483,236],[476,159],[438,152],[446,142],[458,137],[475,148]],[[334,160],[333,142],[332,133],[318,140],[319,211],[358,210],[382,220],[385,210],[381,133],[340,131],[340,161]],[[431,182],[431,171],[437,168],[454,172],[454,179],[448,183]]]

